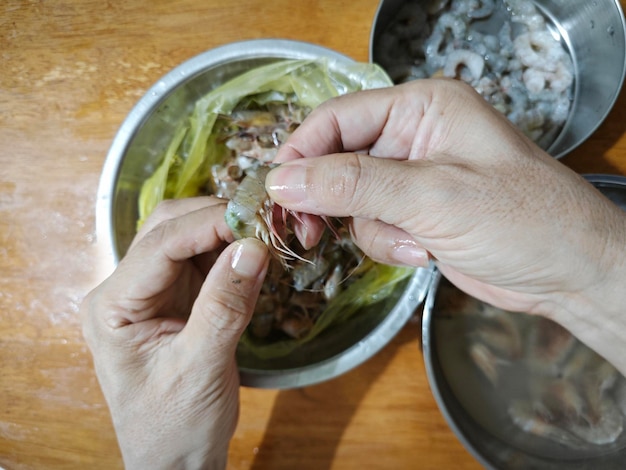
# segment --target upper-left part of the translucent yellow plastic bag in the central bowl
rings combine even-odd
[[[278,61],[227,81],[198,99],[191,115],[180,121],[159,167],[143,184],[139,224],[163,199],[203,192],[211,165],[223,158],[223,150],[218,148],[221,143],[211,139],[219,115],[229,115],[237,107],[270,102],[297,103],[313,109],[338,95],[390,84],[386,73],[373,64],[337,67],[323,58]]]

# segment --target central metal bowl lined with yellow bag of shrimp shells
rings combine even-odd
[[[288,86],[281,81],[287,73]],[[260,85],[261,76],[267,85]],[[315,83],[309,83],[308,94],[306,80]],[[235,236],[263,239],[282,262],[270,269],[267,290],[238,348],[243,385],[293,388],[332,379],[383,348],[426,296],[432,269],[400,272],[380,265],[372,270],[371,261],[356,250],[356,263],[344,262],[346,255],[337,253],[351,253],[355,245],[341,224],[332,225],[332,235],[323,239],[324,246],[333,247],[332,254],[292,249],[283,243],[285,227],[276,223],[280,215],[264,200],[266,165],[310,103],[327,99],[330,91],[351,91],[355,83],[391,84],[379,67],[313,44],[262,39],[221,46],[176,67],[148,90],[123,122],[106,157],[96,230],[113,264],[124,256],[138,223],[158,202],[152,195],[207,193],[230,200],[225,219]],[[331,86],[330,94],[324,94]],[[303,95],[291,94],[289,87]],[[285,102],[276,104],[281,100]],[[235,107],[228,108],[228,103]],[[229,160],[206,161],[207,155],[217,154],[227,154]],[[206,178],[199,180],[199,174]],[[315,256],[320,253],[324,259],[318,262]],[[311,266],[315,269],[306,269]],[[283,281],[286,270],[291,278]],[[313,284],[311,277],[323,282]],[[359,290],[363,286],[366,289]],[[346,302],[344,294],[350,292],[358,302]],[[291,303],[274,307],[287,296]],[[330,299],[322,312],[324,321],[319,320],[322,315],[315,317],[322,296]],[[265,313],[257,315],[260,309],[275,312],[269,321],[279,331],[268,330]]]

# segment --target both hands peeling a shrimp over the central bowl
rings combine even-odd
[[[434,258],[469,294],[575,333],[589,330],[576,320],[585,309],[604,308],[581,338],[592,347],[606,340],[602,318],[620,321],[624,299],[610,288],[626,271],[624,215],[465,85],[423,80],[331,100],[278,159],[270,196],[351,217],[356,242],[378,261]],[[223,211],[213,198],[163,204],[83,304],[129,468],[225,464],[238,415],[235,348],[268,255],[256,240],[231,243]],[[314,222],[300,227],[305,243],[318,236]],[[609,360],[626,357],[621,344]]]

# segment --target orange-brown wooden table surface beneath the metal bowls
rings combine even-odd
[[[623,2],[624,3],[624,2]],[[377,0],[2,0],[0,467],[121,468],[78,309],[102,279],[94,206],[135,101],[228,42],[281,37],[368,59]],[[562,161],[626,174],[626,94]],[[430,393],[411,322],[327,383],[242,390],[229,468],[476,469]]]

